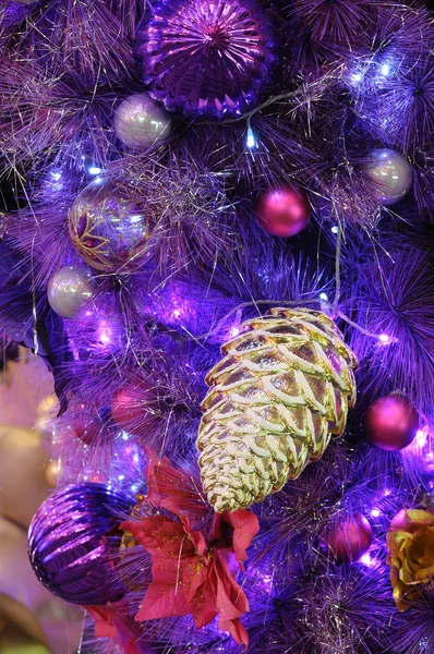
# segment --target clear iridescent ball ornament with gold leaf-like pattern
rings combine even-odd
[[[69,229],[80,256],[104,272],[131,272],[154,252],[152,221],[110,180],[97,178],[77,195]]]

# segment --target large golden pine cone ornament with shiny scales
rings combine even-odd
[[[207,374],[197,449],[217,512],[245,509],[297,479],[343,432],[357,359],[318,311],[272,308],[242,325]]]

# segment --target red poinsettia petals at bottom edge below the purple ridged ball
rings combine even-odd
[[[124,654],[152,654],[141,641],[142,633],[130,616],[124,614],[125,602],[108,602],[105,606],[85,606],[95,620],[95,635],[111,638],[123,649]]]

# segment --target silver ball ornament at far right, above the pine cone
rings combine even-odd
[[[395,204],[410,191],[413,173],[408,160],[388,148],[377,148],[370,153],[371,161],[363,166],[363,172],[375,182],[374,193],[383,206]]]

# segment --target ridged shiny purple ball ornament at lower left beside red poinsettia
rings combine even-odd
[[[104,484],[74,484],[51,495],[28,530],[28,554],[39,581],[72,604],[98,606],[125,593],[110,553],[118,547],[120,513],[131,511],[123,494]]]

